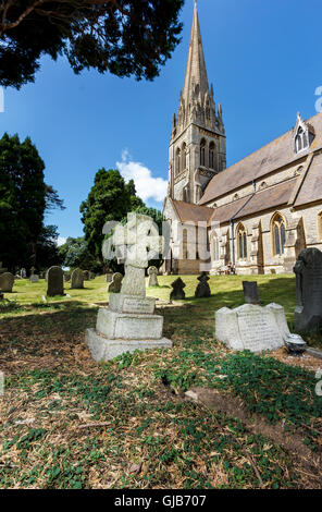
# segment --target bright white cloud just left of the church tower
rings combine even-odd
[[[116,162],[116,167],[126,182],[134,180],[136,193],[144,202],[148,199],[163,202],[168,181],[163,178],[153,178],[150,169],[133,161],[126,149],[122,153],[122,161]]]

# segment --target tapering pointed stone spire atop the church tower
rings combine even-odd
[[[200,95],[200,99],[202,102],[205,95],[209,93],[208,76],[196,0],[188,62],[186,68],[185,85],[183,90],[183,99],[185,101],[186,107],[189,105],[195,93]]]

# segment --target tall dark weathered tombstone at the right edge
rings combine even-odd
[[[298,332],[322,328],[322,253],[315,247],[302,251],[294,267],[296,308],[294,326]]]

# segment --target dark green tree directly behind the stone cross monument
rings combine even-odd
[[[107,171],[102,168],[96,173],[94,186],[87,199],[81,205],[81,214],[83,214],[82,222],[88,249],[104,268],[106,264],[101,254],[104,223],[113,220],[121,221],[128,211],[137,207],[139,202],[134,182],[125,184],[117,170]]]

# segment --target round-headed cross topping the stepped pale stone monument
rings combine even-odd
[[[145,297],[145,269],[149,260],[158,258],[162,252],[163,236],[159,235],[158,227],[148,216],[128,214],[127,219],[124,227],[116,227],[113,235],[113,243],[125,260],[121,293]]]

